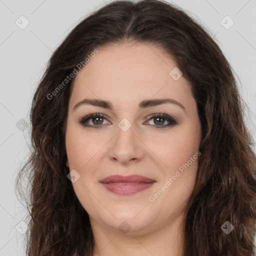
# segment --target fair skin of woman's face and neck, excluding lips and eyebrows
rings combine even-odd
[[[201,141],[188,81],[169,75],[177,65],[156,46],[121,44],[98,50],[75,76],[65,134],[66,165],[80,175],[72,185],[89,214],[93,255],[182,256],[182,221],[198,158],[190,160],[177,178],[173,175],[198,152]],[[84,98],[110,101],[113,108],[80,104],[73,109]],[[174,103],[139,108],[140,101],[156,98],[171,98],[184,109]],[[90,118],[86,124],[101,127],[79,123],[79,118],[96,112],[105,117]],[[163,127],[170,122],[157,119],[162,118],[159,112],[177,123]],[[149,118],[152,114],[156,117]],[[123,118],[131,125],[126,131],[118,126]],[[120,195],[99,182],[113,174],[138,174],[155,182],[137,193]],[[166,185],[169,178],[173,182]],[[153,197],[164,184],[162,193]],[[120,224],[130,229],[123,232]]]

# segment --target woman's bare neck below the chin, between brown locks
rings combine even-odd
[[[90,219],[94,236],[93,256],[183,256],[183,216],[143,233],[143,230],[122,233]]]

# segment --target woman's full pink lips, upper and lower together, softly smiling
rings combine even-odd
[[[111,175],[101,179],[99,182],[111,192],[129,195],[150,187],[155,180],[140,175]]]

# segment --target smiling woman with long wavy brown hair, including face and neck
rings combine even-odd
[[[242,109],[223,53],[181,9],[114,1],[86,17],[33,97],[17,177],[31,171],[27,255],[254,255]]]

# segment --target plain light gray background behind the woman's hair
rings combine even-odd
[[[24,120],[29,122],[35,87],[52,51],[68,32],[110,1],[0,0],[0,256],[25,255],[22,232],[26,229],[20,221],[27,212],[16,198],[14,181],[29,152],[30,127]],[[255,140],[256,0],[169,2],[187,10],[217,40],[241,81],[240,92],[250,109],[245,112],[247,123]],[[25,22],[29,23],[23,28]]]

